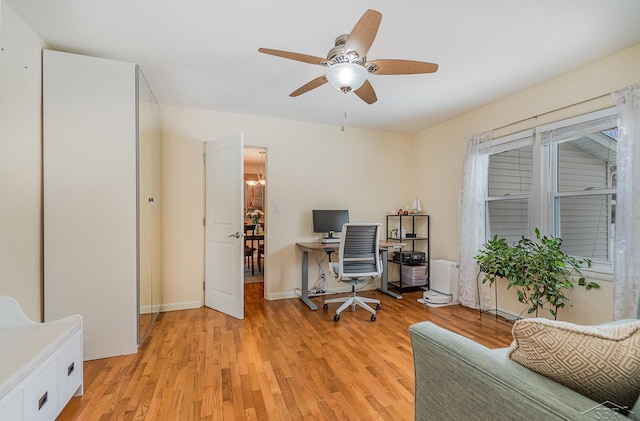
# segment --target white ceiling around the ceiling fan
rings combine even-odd
[[[5,1],[53,49],[140,64],[162,104],[406,133],[640,42],[638,0]],[[324,57],[369,8],[370,60],[438,72],[371,75],[373,105],[329,85],[290,98],[323,68],[258,53]]]

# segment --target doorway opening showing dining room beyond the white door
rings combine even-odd
[[[244,148],[244,283],[264,283],[266,149]]]

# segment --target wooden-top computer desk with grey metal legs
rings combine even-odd
[[[312,241],[307,243],[296,243],[296,245],[300,248],[300,250],[302,250],[302,292],[300,294],[300,299],[303,303],[309,306],[311,310],[317,310],[318,306],[316,306],[309,299],[309,252],[322,251],[330,255],[331,253],[338,251],[338,248],[340,248],[340,243],[323,243],[321,241]],[[380,277],[380,288],[378,288],[378,291],[384,292],[385,294],[397,298],[398,300],[402,299],[402,295],[396,294],[393,291],[389,291],[388,288],[388,253],[390,248],[402,248],[406,245],[406,243],[401,243],[400,241],[380,241],[382,276]]]

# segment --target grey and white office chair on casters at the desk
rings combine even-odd
[[[347,307],[355,311],[356,305],[371,312],[371,321],[376,321],[376,310],[380,310],[380,300],[356,295],[356,286],[367,283],[382,274],[380,261],[380,226],[381,224],[344,224],[338,249],[339,262],[329,263],[329,269],[336,279],[351,285],[351,295],[332,298],[324,301],[323,309],[328,304],[342,303],[336,310],[333,320],[340,320],[340,313]],[[375,304],[375,310],[367,303]]]

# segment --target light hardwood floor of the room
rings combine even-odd
[[[511,325],[461,306],[431,308],[421,292],[377,291],[376,322],[363,309],[333,321],[298,299],[265,301],[245,285],[245,319],[208,308],[158,317],[135,355],[84,364],[84,396],[59,420],[412,420],[409,325],[430,320],[490,348]]]

